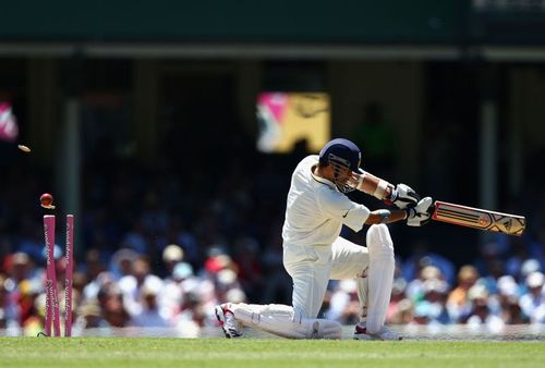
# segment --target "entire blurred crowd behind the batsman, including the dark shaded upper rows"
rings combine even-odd
[[[281,225],[290,172],[301,154],[274,159],[232,144],[237,149],[226,148],[233,157],[220,162],[220,173],[203,170],[217,167],[218,158],[208,156],[183,164],[159,160],[153,172],[130,162],[104,164],[99,156],[89,163],[82,212],[75,213],[74,335],[90,328],[165,327],[197,336],[217,326],[216,304],[291,303]],[[173,157],[189,157],[178,148]],[[50,187],[47,177],[21,165],[3,168],[0,329],[10,335],[44,330],[44,212],[37,198]],[[411,250],[397,257],[387,322],[494,331],[545,323],[543,218],[534,218],[528,236],[498,235],[465,265],[399,235],[402,225],[393,224],[395,245]],[[59,219],[55,257],[64,300]],[[351,240],[362,243],[364,236]],[[320,316],[353,323],[358,314],[354,281],[331,281]]]

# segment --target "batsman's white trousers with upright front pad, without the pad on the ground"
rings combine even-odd
[[[355,279],[361,321],[371,333],[386,318],[393,282],[393,244],[385,224],[372,225],[367,247],[338,237],[334,244],[283,245],[283,265],[293,280],[292,306],[303,318],[316,318],[329,280]]]

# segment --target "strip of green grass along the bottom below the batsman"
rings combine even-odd
[[[1,367],[545,367],[541,342],[0,338]]]

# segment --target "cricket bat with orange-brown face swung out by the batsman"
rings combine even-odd
[[[495,212],[440,200],[436,200],[434,204],[432,219],[517,236],[522,235],[526,226],[526,219],[523,216]]]

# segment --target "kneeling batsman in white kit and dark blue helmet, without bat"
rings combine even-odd
[[[304,158],[293,171],[282,229],[283,266],[293,280],[292,306],[226,303],[216,317],[227,338],[253,327],[291,339],[340,339],[341,324],[318,319],[329,280],[355,279],[360,300],[358,340],[401,340],[385,324],[393,281],[393,243],[387,223],[429,221],[432,198],[408,185],[392,185],[360,169],[361,151],[348,139],[327,143],[319,156]],[[371,211],[344,194],[361,191],[392,210]],[[371,225],[366,246],[339,236],[342,225]]]

